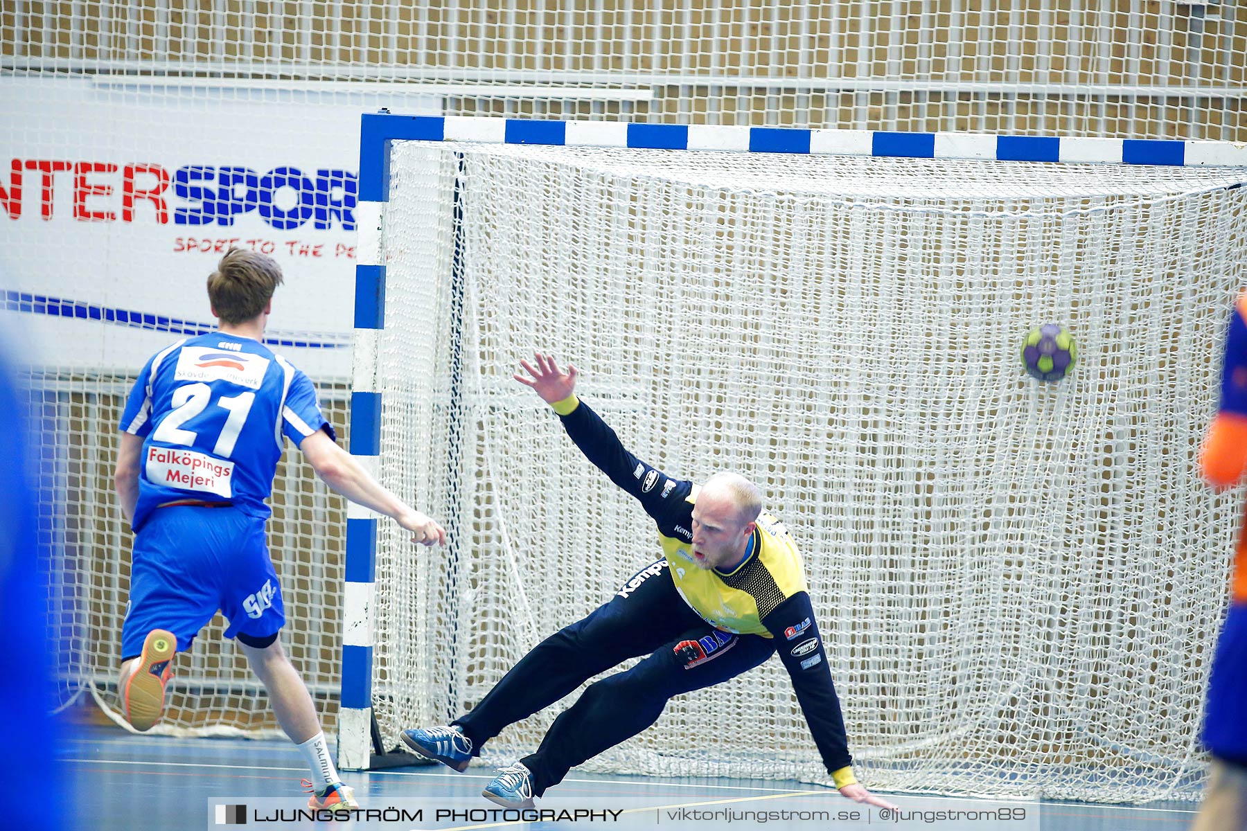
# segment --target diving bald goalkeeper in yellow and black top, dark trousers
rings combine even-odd
[[[463,771],[506,725],[597,673],[648,655],[591,684],[555,719],[536,753],[504,767],[485,787],[493,802],[531,807],[571,767],[657,721],[672,696],[720,684],[778,654],[835,787],[852,800],[893,807],[853,775],[801,554],[783,525],[762,511],[757,487],[728,472],[698,487],[650,467],[576,397],[574,366],[562,371],[541,354],[520,365],[526,375],[515,380],[550,404],[581,452],[640,500],[658,526],[663,558],[587,618],[537,644],[470,713],[446,726],[405,730],[404,744]],[[757,736],[759,751],[768,740]]]

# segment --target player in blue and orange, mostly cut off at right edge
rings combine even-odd
[[[1247,472],[1247,292],[1238,295],[1226,333],[1221,404],[1200,452],[1203,477],[1216,488]],[[1230,612],[1212,657],[1203,745],[1212,770],[1193,831],[1247,829],[1247,528],[1240,528],[1230,586]]]

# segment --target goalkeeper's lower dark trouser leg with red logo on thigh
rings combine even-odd
[[[731,635],[702,624],[632,669],[591,684],[550,725],[537,751],[520,760],[531,771],[532,795],[541,796],[576,765],[652,725],[672,696],[734,678],[764,663],[774,649],[769,638]]]

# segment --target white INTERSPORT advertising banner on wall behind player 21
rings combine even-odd
[[[0,326],[34,363],[137,371],[214,325],[206,279],[243,247],[284,273],[271,346],[349,378],[359,116],[440,101],[221,83],[0,78]]]

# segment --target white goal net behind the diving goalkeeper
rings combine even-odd
[[[759,483],[872,786],[1193,797],[1238,505],[1196,449],[1241,169],[400,143],[390,171],[383,477],[453,542],[383,539],[388,743],[660,553],[511,380],[552,350],[641,458]],[[1080,346],[1055,386],[1019,360],[1044,321]],[[827,780],[777,660],[586,767]]]

